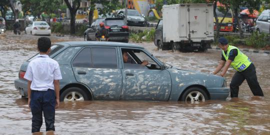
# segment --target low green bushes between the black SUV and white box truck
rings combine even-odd
[[[143,32],[139,33],[131,33],[129,34],[129,38],[133,41],[153,41],[154,38],[154,28],[150,30],[144,30]]]

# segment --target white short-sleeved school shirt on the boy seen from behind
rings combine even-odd
[[[31,90],[54,90],[53,80],[62,79],[59,64],[46,54],[38,55],[28,64],[24,78],[31,80]]]

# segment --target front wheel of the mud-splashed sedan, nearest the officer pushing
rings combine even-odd
[[[206,92],[199,87],[188,88],[181,97],[181,101],[186,103],[204,102],[208,99]]]

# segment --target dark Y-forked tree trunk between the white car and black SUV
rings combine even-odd
[[[74,34],[75,33],[75,20],[76,20],[75,15],[80,6],[80,0],[70,0],[70,1],[72,5],[70,4],[69,0],[64,0],[70,13],[70,33]]]

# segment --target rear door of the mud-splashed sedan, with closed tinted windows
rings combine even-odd
[[[122,75],[118,67],[116,47],[85,47],[72,60],[76,80],[100,100],[120,99]]]

